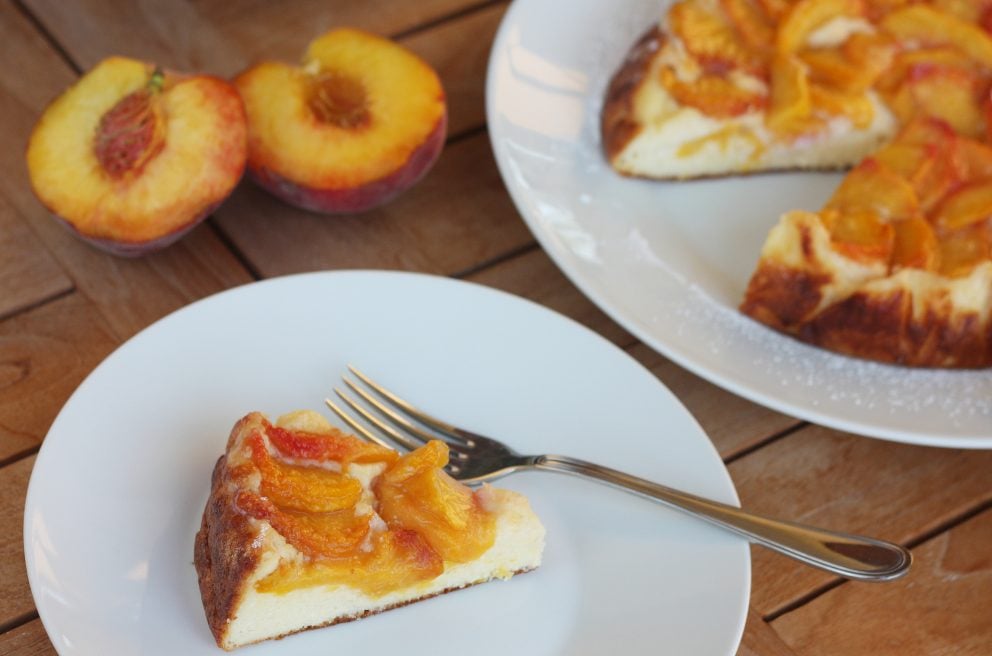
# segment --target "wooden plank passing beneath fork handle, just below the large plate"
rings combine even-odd
[[[744,507],[901,544],[992,500],[992,451],[938,449],[811,426],[731,463]],[[752,605],[768,617],[837,579],[754,547]]]

